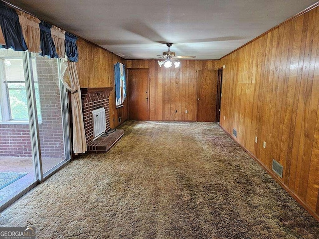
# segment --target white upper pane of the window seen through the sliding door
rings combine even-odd
[[[4,75],[6,81],[24,81],[24,70],[22,58],[2,58]]]

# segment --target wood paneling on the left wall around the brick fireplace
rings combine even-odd
[[[77,41],[79,50],[79,61],[77,71],[81,88],[113,87],[110,95],[110,125],[117,127],[122,121],[128,119],[128,101],[124,101],[124,106],[116,108],[115,104],[115,83],[114,64],[117,62],[125,64],[125,60],[113,53],[110,53],[87,41],[79,39]]]

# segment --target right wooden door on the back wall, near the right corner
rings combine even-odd
[[[197,72],[197,121],[216,121],[217,71]]]

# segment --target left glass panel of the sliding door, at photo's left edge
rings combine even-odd
[[[0,50],[0,206],[37,180],[23,54]]]

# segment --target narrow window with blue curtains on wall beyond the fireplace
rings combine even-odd
[[[116,106],[120,107],[126,99],[125,65],[122,63],[118,62],[114,65],[114,80]]]

